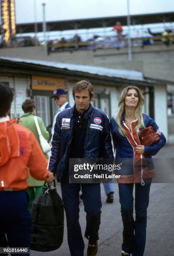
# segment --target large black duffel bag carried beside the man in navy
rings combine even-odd
[[[64,236],[64,204],[54,187],[44,183],[42,192],[31,207],[31,246],[34,251],[58,249]]]

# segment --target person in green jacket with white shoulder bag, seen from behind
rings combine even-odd
[[[30,131],[32,131],[38,141],[38,144],[41,146],[40,141],[39,141],[38,131],[37,131],[36,124],[34,121],[34,115],[36,112],[35,101],[33,99],[26,99],[22,104],[22,110],[23,110],[24,114],[20,117],[20,121],[19,121],[20,125],[23,125],[26,128],[28,128]],[[44,125],[43,120],[38,116],[37,116],[37,120],[38,120],[38,125],[41,129],[42,135],[44,136],[44,138],[46,140],[48,140],[49,132],[46,131],[46,127]],[[45,157],[46,157],[46,159],[48,159],[48,156],[46,154],[45,154]],[[39,159],[38,159],[38,161],[39,161]],[[29,169],[28,169],[28,171],[29,171]],[[27,182],[29,185],[29,188],[26,189],[26,191],[29,195],[28,208],[31,209],[33,200],[41,193],[44,182],[33,179],[30,174],[28,176]]]

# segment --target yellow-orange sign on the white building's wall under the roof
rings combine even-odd
[[[68,91],[68,79],[33,75],[31,88],[42,91],[54,91],[56,88],[63,88]]]

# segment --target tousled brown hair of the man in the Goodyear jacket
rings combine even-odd
[[[72,95],[73,98],[75,99],[75,92],[80,92],[82,90],[88,90],[90,93],[90,99],[92,97],[95,97],[95,93],[94,93],[94,88],[92,86],[92,84],[88,81],[88,80],[81,80],[79,82],[77,82],[73,88],[72,88]]]

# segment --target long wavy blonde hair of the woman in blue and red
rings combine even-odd
[[[114,119],[115,122],[118,124],[118,131],[121,135],[126,136],[126,131],[123,129],[122,124],[121,124],[121,116],[125,112],[125,97],[128,94],[129,89],[135,89],[138,94],[138,104],[136,106],[136,111],[135,111],[135,130],[137,133],[139,133],[140,127],[145,128],[144,122],[143,122],[143,115],[142,115],[142,107],[144,105],[144,97],[140,91],[140,89],[134,85],[128,85],[127,87],[124,88],[124,90],[121,93],[120,100],[118,102],[118,113],[115,115]]]

